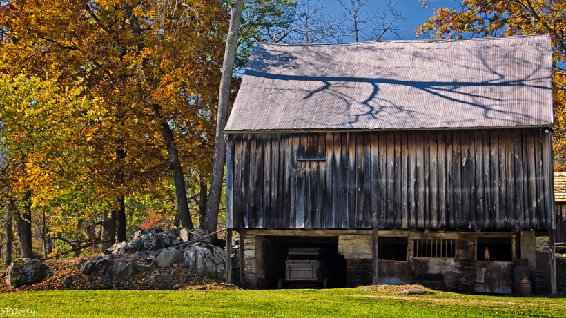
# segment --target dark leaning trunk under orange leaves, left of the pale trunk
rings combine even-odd
[[[188,201],[186,198],[185,178],[183,174],[183,167],[179,160],[179,150],[177,150],[177,143],[175,143],[175,136],[171,130],[169,123],[162,118],[160,114],[161,107],[157,104],[153,105],[153,112],[159,124],[161,125],[161,132],[165,146],[169,154],[169,163],[173,171],[173,182],[175,183],[175,196],[177,197],[177,209],[179,210],[179,217],[181,218],[181,225],[184,228],[193,228],[193,220],[191,213],[188,211]]]

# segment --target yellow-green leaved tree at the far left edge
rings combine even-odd
[[[34,202],[76,177],[79,152],[62,145],[73,128],[67,125],[77,118],[73,112],[87,105],[90,101],[78,97],[76,90],[55,81],[0,75],[0,202],[6,206],[6,230],[11,219],[15,223],[23,257],[33,257]]]

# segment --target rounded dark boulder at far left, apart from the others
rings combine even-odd
[[[39,283],[50,276],[50,268],[39,259],[16,259],[6,270],[6,284],[12,288]]]

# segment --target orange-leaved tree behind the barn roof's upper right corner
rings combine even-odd
[[[424,0],[429,6],[433,1]],[[462,1],[457,8],[436,8],[416,34],[433,38],[550,34],[553,56],[554,166],[566,166],[566,12],[565,1]]]

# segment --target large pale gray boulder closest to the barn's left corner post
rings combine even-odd
[[[218,246],[202,242],[191,244],[186,248],[183,260],[188,268],[199,274],[217,279],[224,279],[226,275],[226,253]]]

